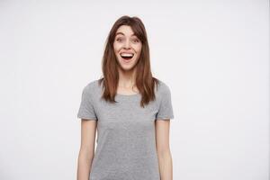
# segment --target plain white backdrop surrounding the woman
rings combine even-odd
[[[82,89],[125,14],[171,89],[174,179],[268,179],[266,0],[0,1],[0,179],[76,179]]]

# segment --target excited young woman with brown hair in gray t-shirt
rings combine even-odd
[[[144,24],[122,16],[103,54],[103,77],[85,85],[78,180],[172,180],[169,87],[153,77]],[[97,131],[94,151],[95,131]]]

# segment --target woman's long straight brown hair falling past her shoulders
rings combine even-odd
[[[148,104],[155,100],[155,85],[158,84],[158,79],[152,76],[150,69],[150,56],[148,47],[147,32],[144,24],[139,17],[130,17],[128,15],[121,16],[113,25],[106,39],[105,49],[103,52],[103,77],[99,79],[99,85],[103,82],[103,99],[111,103],[116,103],[114,97],[116,95],[119,82],[119,74],[117,66],[117,58],[113,51],[113,41],[115,33],[121,25],[129,25],[134,34],[141,40],[142,47],[136,68],[136,86],[141,94],[140,106]]]

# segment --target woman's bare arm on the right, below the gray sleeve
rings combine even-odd
[[[169,148],[169,120],[156,121],[156,144],[161,180],[173,180],[173,160]]]

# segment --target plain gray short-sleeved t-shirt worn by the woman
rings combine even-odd
[[[116,94],[109,103],[94,80],[85,86],[77,118],[97,121],[90,180],[160,180],[155,121],[173,119],[169,87],[162,81],[156,100],[140,107],[140,94]]]

